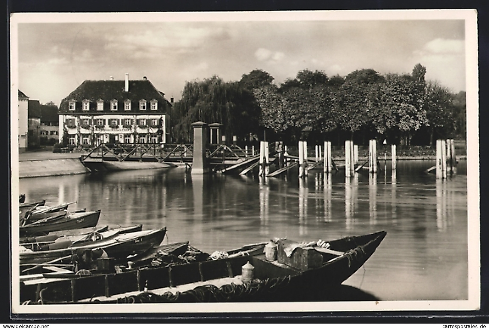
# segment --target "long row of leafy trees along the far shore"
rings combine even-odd
[[[187,82],[172,113],[172,137],[192,140],[191,123],[223,124],[223,134],[240,140],[295,142],[353,139],[365,145],[386,138],[400,145],[432,145],[436,138],[465,138],[466,94],[425,81],[426,68],[410,74],[380,75],[361,69],[345,77],[299,71],[279,86],[266,71],[243,74],[240,81],[213,76]]]

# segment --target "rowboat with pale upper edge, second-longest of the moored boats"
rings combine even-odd
[[[73,247],[67,247],[70,245],[70,241],[67,241],[65,242],[65,245],[59,243],[50,246],[50,250],[21,250],[19,253],[20,265],[47,263],[66,256],[81,253],[88,249],[103,249],[108,257],[122,259],[132,253],[143,252],[154,245],[159,245],[161,241],[163,241],[165,233],[166,228],[164,227],[157,230],[120,234],[111,237],[110,239],[93,241],[92,243],[83,243],[82,245],[75,244]],[[69,263],[70,261],[70,259],[66,259],[66,263]]]

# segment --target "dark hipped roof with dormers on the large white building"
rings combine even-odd
[[[61,101],[60,112],[68,111],[68,102],[75,101],[75,112],[81,112],[82,102],[90,101],[91,112],[96,111],[96,102],[104,101],[104,111],[110,110],[110,102],[118,101],[119,112],[127,112],[123,109],[123,102],[130,100],[132,102],[131,111],[138,110],[140,100],[158,102],[158,112],[166,111],[170,103],[163,97],[163,93],[158,91],[149,80],[129,80],[129,91],[124,91],[124,80],[85,80],[78,88],[73,90],[65,99]]]

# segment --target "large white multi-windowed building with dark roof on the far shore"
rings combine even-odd
[[[59,140],[68,144],[168,143],[171,104],[142,80],[86,80],[59,109]]]

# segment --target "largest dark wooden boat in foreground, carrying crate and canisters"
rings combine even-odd
[[[315,260],[321,256],[322,261],[313,268],[300,269],[268,261],[264,255],[265,243],[261,243],[229,251],[223,259],[140,268],[41,285],[36,288],[39,294],[29,299],[35,298],[44,304],[264,302],[318,300],[320,294],[319,300],[327,300],[328,293],[372,256],[385,235],[386,232],[377,232],[332,240],[328,241],[329,249],[299,247],[286,261],[293,263],[294,257],[298,257],[307,263],[311,255]],[[279,241],[279,260],[286,250],[283,242]],[[243,282],[242,267],[248,262],[254,266],[254,279]],[[148,291],[141,292],[145,289]],[[24,296],[29,295],[24,293]]]

